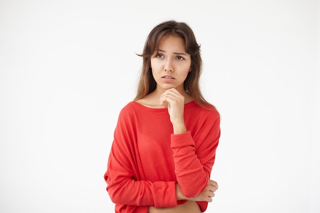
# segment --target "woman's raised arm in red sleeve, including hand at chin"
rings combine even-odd
[[[182,193],[193,198],[204,190],[210,180],[220,138],[220,115],[218,112],[208,112],[197,118],[199,129],[192,135],[184,122],[184,101],[184,96],[177,90],[168,89],[162,94],[160,105],[168,102],[177,182]]]

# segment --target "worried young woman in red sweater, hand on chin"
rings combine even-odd
[[[200,45],[184,22],[151,30],[135,99],[120,112],[104,175],[119,213],[198,213],[210,180],[220,116],[199,88]]]

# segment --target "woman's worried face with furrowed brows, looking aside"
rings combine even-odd
[[[184,91],[184,82],[190,72],[191,56],[185,50],[185,41],[177,36],[166,36],[159,50],[151,56],[152,75],[156,90],[176,88]]]

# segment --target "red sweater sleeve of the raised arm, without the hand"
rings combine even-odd
[[[204,121],[200,129],[194,135],[190,131],[171,135],[177,182],[190,198],[200,194],[210,179],[220,137],[220,116]]]

